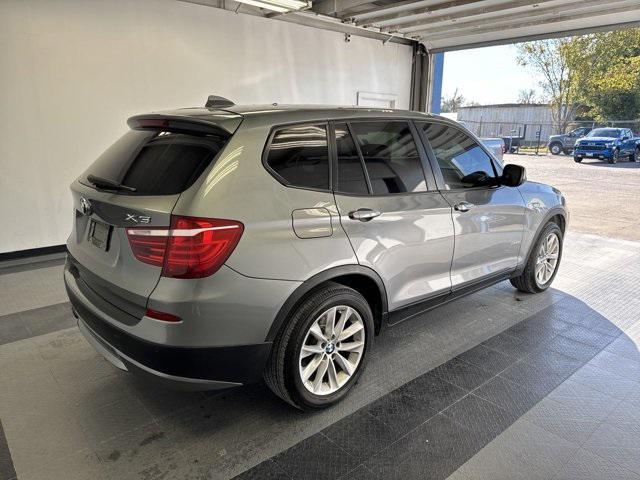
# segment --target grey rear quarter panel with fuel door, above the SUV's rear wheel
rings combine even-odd
[[[244,233],[226,265],[249,277],[303,281],[331,267],[357,264],[333,193],[286,187],[262,165],[270,129],[258,118],[245,118],[216,164],[180,197],[174,213],[242,222]],[[322,236],[296,235],[292,212],[299,209],[328,211],[331,235],[324,231],[326,217],[318,218]],[[313,215],[307,217],[305,228],[313,230]]]

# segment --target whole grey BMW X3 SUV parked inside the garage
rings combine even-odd
[[[122,370],[326,407],[384,329],[507,279],[542,292],[560,263],[560,192],[444,118],[210,97],[128,125],[71,186],[64,271]]]

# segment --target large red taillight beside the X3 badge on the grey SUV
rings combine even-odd
[[[238,244],[244,226],[218,218],[171,217],[169,228],[128,228],[141,262],[162,267],[162,276],[202,278],[215,273]]]

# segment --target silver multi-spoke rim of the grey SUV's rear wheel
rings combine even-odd
[[[304,387],[314,395],[330,395],[358,370],[365,347],[360,314],[338,305],[311,324],[300,349],[298,368]]]

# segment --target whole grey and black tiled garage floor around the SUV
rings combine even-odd
[[[0,288],[2,480],[640,478],[640,243],[571,233],[553,289],[503,283],[388,330],[314,414],[114,370],[59,276],[0,270],[22,285]]]

